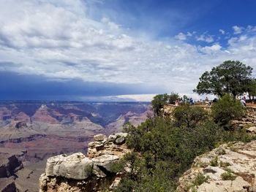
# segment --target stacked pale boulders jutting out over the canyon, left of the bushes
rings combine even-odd
[[[121,180],[112,165],[130,150],[125,145],[127,134],[94,136],[87,157],[83,153],[57,155],[48,158],[45,173],[39,178],[39,188],[45,191],[99,191],[113,189]]]

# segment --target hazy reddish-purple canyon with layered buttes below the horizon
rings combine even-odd
[[[143,102],[1,101],[0,170],[12,169],[0,171],[0,190],[39,191],[47,158],[87,153],[95,134],[120,132],[152,115]]]

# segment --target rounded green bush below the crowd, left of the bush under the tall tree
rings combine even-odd
[[[173,118],[176,120],[176,126],[194,128],[198,123],[207,119],[207,112],[202,107],[182,104],[173,110]]]

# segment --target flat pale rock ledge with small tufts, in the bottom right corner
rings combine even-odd
[[[256,141],[220,145],[195,158],[178,191],[255,192]]]

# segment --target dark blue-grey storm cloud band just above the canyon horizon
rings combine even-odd
[[[99,97],[151,93],[151,88],[142,88],[141,85],[83,82],[78,79],[56,81],[47,80],[42,76],[22,75],[14,72],[0,72],[0,82],[1,100],[81,100],[86,96]]]

